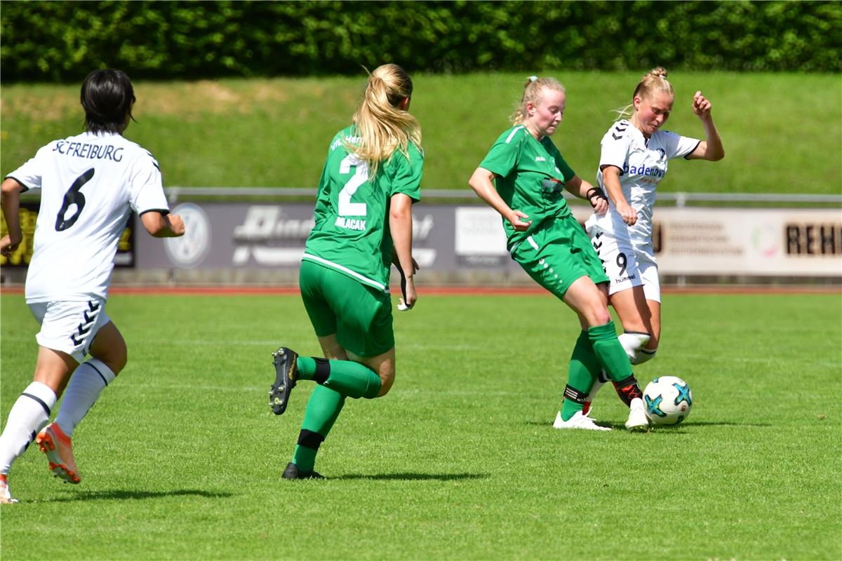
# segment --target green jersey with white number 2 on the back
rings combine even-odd
[[[370,177],[365,161],[348,150],[360,138],[354,126],[340,130],[328,149],[316,202],[316,225],[302,259],[331,267],[384,292],[389,291],[392,236],[389,200],[396,193],[420,198],[424,154],[409,143],[408,156],[395,151]]]

